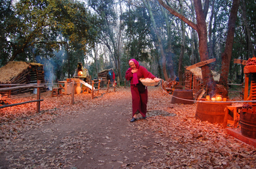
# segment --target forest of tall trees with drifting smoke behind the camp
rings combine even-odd
[[[7,62],[26,61],[44,64],[55,79],[70,78],[82,62],[92,78],[113,68],[124,78],[128,60],[137,59],[159,78],[183,79],[185,66],[201,62],[198,11],[205,21],[209,65],[222,69],[228,25],[238,3],[234,21],[228,80],[243,82],[243,65],[234,59],[248,60],[255,53],[255,1],[179,0],[0,0],[0,67]],[[201,8],[198,8],[201,7]],[[191,22],[191,25],[189,25]]]

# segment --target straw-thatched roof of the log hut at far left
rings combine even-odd
[[[8,62],[5,66],[0,67],[0,83],[7,84],[11,79],[22,73],[25,69],[28,69],[29,64],[43,65],[39,63],[27,63],[27,62]]]

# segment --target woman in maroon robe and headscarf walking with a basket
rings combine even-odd
[[[150,78],[158,82],[160,79],[156,78],[147,69],[138,64],[135,59],[129,60],[129,69],[125,73],[125,79],[131,81],[131,96],[132,96],[132,119],[131,122],[137,120],[137,113],[140,113],[143,118],[146,118],[147,113],[147,87],[144,87],[144,91],[140,90],[139,79]],[[139,88],[139,90],[138,90]]]

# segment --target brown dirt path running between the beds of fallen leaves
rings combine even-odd
[[[85,109],[71,106],[70,114],[5,142],[0,168],[141,168],[159,148],[150,132],[136,128],[147,119],[129,122],[129,90],[107,98]]]

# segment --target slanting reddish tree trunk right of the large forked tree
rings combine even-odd
[[[228,70],[230,67],[230,60],[231,60],[231,54],[232,54],[232,48],[233,48],[233,41],[234,41],[234,29],[235,29],[235,23],[237,18],[237,11],[239,8],[239,2],[240,0],[234,0],[232,7],[231,7],[231,13],[228,20],[228,33],[227,33],[227,40],[225,44],[225,50],[224,53],[222,53],[222,67],[221,67],[221,78],[219,79],[219,84],[224,85],[226,89],[228,89]]]

